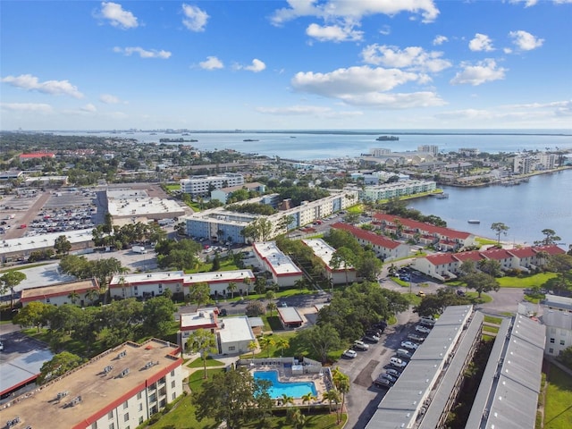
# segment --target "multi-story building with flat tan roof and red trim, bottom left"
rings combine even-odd
[[[126,342],[4,404],[3,419],[18,427],[129,429],[182,394],[178,345]]]

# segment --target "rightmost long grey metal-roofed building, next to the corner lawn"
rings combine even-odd
[[[545,327],[533,319],[503,319],[465,427],[534,427],[545,339]]]

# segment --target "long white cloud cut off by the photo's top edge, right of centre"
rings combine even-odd
[[[368,0],[347,1],[327,0],[318,4],[315,0],[288,0],[289,7],[278,9],[273,13],[271,21],[274,25],[295,20],[299,17],[314,16],[324,21],[338,19],[357,22],[365,16],[375,14],[396,15],[401,12],[420,14],[422,21],[433,22],[439,10],[433,0]]]

